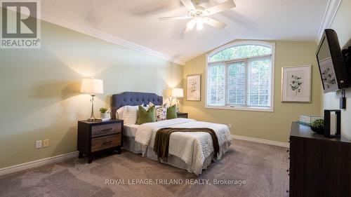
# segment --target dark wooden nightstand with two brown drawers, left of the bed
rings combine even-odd
[[[123,120],[78,121],[79,158],[86,154],[88,163],[91,163],[93,156],[102,151],[117,151],[117,154],[121,154],[122,131]]]

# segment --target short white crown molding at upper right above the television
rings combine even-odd
[[[321,27],[319,27],[319,32],[317,35],[316,43],[322,38],[324,29],[329,29],[331,27],[331,23],[334,20],[336,13],[338,12],[338,8],[341,4],[342,0],[329,0],[328,5],[326,6],[326,11],[324,13],[324,17],[322,20]]]

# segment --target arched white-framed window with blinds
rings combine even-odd
[[[206,107],[273,111],[274,43],[240,41],[207,57]]]

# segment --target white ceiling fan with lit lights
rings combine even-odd
[[[194,29],[194,26],[197,26],[197,30],[204,29],[204,23],[207,25],[211,25],[213,27],[217,27],[219,29],[223,29],[227,26],[224,22],[219,22],[218,20],[214,20],[209,18],[208,16],[213,15],[215,13],[220,13],[231,8],[235,7],[235,3],[233,0],[228,0],[223,2],[222,4],[218,4],[217,6],[213,6],[211,8],[203,8],[201,6],[194,5],[191,0],[180,0],[182,1],[183,5],[187,7],[189,13],[183,16],[171,16],[171,17],[162,17],[159,20],[181,20],[181,19],[189,19],[187,22],[187,29],[186,32],[189,30]]]

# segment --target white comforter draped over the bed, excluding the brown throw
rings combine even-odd
[[[217,159],[225,153],[223,145],[229,147],[232,135],[227,125],[195,121],[189,118],[175,118],[154,123],[145,123],[136,130],[135,142],[146,147],[154,147],[154,137],[160,128],[211,128],[216,132],[220,145]],[[169,138],[168,153],[182,159],[187,165],[191,165],[192,171],[199,175],[204,166],[205,158],[213,152],[211,135],[208,133],[172,133]],[[145,156],[146,152],[143,152]]]

